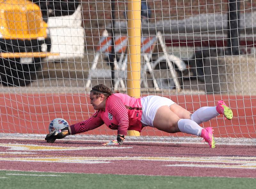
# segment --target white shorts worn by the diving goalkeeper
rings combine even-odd
[[[142,124],[150,127],[154,127],[153,121],[158,108],[160,108],[161,106],[171,106],[172,104],[176,104],[176,103],[169,98],[160,97],[156,95],[150,95],[150,96],[141,98]]]

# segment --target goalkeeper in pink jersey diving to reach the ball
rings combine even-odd
[[[233,117],[232,110],[222,100],[217,106],[201,107],[191,114],[169,98],[156,95],[133,98],[112,93],[102,84],[90,91],[90,103],[97,112],[89,119],[54,130],[45,140],[53,143],[56,139],[93,130],[105,123],[110,129],[117,130],[117,138],[103,145],[122,145],[127,130],[141,132],[143,127],[149,126],[168,133],[183,132],[202,137],[210,148],[214,148],[212,127],[202,128],[199,124],[220,114],[229,120]]]

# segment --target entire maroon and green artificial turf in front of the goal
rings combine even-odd
[[[0,189],[246,188],[256,186],[256,146],[0,138]]]

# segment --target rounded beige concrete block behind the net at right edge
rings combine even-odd
[[[207,93],[256,94],[255,54],[208,58],[205,65]]]

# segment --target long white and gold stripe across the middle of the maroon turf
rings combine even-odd
[[[111,163],[113,161],[165,161],[165,162],[187,162],[188,164],[170,164],[165,166],[180,167],[213,167],[232,169],[256,169],[256,157],[25,157],[25,158],[0,158],[0,161],[22,161],[22,162],[51,162],[51,163]],[[192,164],[191,164],[192,163]],[[195,163],[195,164],[193,164]],[[201,163],[201,164],[196,164]],[[214,164],[209,164],[214,163]]]

